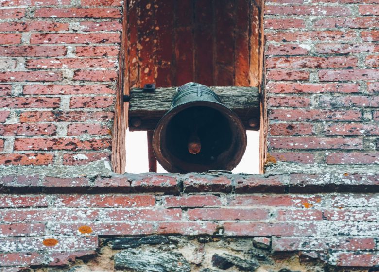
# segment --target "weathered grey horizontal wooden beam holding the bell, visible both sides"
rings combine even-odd
[[[210,87],[225,106],[241,119],[246,130],[259,130],[260,103],[257,87]],[[130,90],[129,130],[154,130],[158,121],[170,109],[176,87],[157,88],[154,92]]]

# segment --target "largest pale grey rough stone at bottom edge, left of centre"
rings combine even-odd
[[[115,255],[115,269],[137,272],[190,272],[191,268],[182,254],[158,249],[127,249]]]

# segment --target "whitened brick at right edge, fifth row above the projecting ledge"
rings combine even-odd
[[[378,107],[378,96],[338,96],[322,97],[320,104],[324,107]]]

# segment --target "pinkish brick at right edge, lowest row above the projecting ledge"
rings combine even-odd
[[[326,162],[328,164],[379,164],[379,152],[329,153]]]

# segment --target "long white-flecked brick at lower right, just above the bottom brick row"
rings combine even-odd
[[[274,251],[368,250],[375,248],[373,238],[348,237],[273,237]]]

